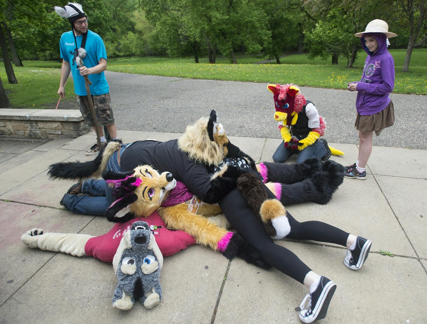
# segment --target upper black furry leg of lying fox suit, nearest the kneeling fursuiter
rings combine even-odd
[[[285,184],[300,182],[312,177],[317,171],[322,170],[322,162],[316,158],[307,159],[300,164],[262,162],[259,167],[263,168],[263,165],[267,171],[267,182],[279,182]],[[263,172],[261,172],[261,174],[262,173]]]

